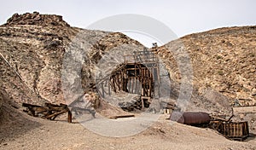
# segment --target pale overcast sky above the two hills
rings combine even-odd
[[[59,14],[71,26],[87,28],[117,14],[139,14],[168,26],[177,38],[225,26],[255,26],[255,0],[1,0],[0,24],[12,14],[38,11]],[[145,25],[147,26],[147,25]],[[101,29],[99,29],[101,30]],[[153,29],[152,29],[153,30]],[[159,28],[154,30],[158,31]],[[122,32],[122,31],[121,31]],[[157,39],[140,32],[124,32],[150,46]],[[154,36],[153,36],[154,37]]]

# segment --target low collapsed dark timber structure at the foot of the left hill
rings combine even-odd
[[[57,116],[63,113],[67,113],[67,122],[72,123],[72,113],[66,104],[55,105],[51,103],[45,103],[44,107],[38,105],[32,105],[28,103],[22,103],[22,107],[27,109],[24,112],[32,115],[33,117],[47,118],[54,120]]]

